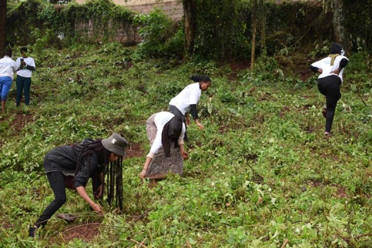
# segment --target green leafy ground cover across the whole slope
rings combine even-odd
[[[350,57],[329,139],[325,99],[305,55],[261,57],[254,72],[247,63],[145,60],[115,43],[34,57],[31,105],[9,100],[0,114],[1,246],[280,247],[287,239],[289,247],[372,246],[369,54]],[[196,73],[213,80],[199,101],[205,130],[189,126],[185,175],[149,188],[138,177],[149,149],[146,119]],[[124,211],[103,202],[97,215],[69,191],[58,213],[77,215],[74,223],[54,216],[39,238],[27,238],[53,198],[46,152],[113,131],[131,143]]]

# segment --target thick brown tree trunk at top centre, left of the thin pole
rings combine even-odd
[[[184,58],[194,52],[194,41],[196,32],[196,0],[183,0],[185,16],[185,45]]]

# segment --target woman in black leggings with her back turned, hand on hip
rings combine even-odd
[[[326,136],[331,134],[337,101],[341,98],[342,73],[349,62],[349,59],[344,56],[345,51],[337,43],[331,45],[329,53],[327,57],[310,65],[311,71],[321,73],[318,77],[318,90],[326,99],[326,108],[322,111]]]

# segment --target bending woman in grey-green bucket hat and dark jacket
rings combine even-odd
[[[92,209],[102,212],[101,206],[95,203],[85,191],[89,178],[92,178],[94,198],[103,198],[104,173],[107,175],[108,201],[114,198],[120,209],[123,208],[122,159],[126,139],[113,133],[108,139],[86,139],[80,144],[58,147],[44,157],[45,173],[52,187],[55,199],[47,206],[43,214],[29,229],[29,236],[35,237],[36,230],[45,226],[52,215],[66,202],[65,188],[76,190]],[[106,170],[105,170],[106,169]]]

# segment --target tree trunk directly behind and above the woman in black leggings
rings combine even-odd
[[[340,44],[344,50],[349,51],[350,39],[349,32],[346,28],[346,20],[344,15],[343,0],[333,0],[333,29],[336,42]]]

